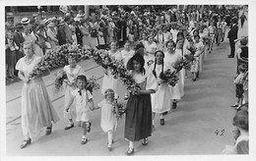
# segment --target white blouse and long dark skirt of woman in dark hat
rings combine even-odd
[[[134,80],[142,89],[158,90],[158,82],[152,73],[136,74]],[[125,118],[125,138],[136,141],[152,134],[152,102],[150,94],[133,95],[128,99]]]

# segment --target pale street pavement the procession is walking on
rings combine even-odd
[[[240,27],[240,26],[239,26]],[[248,25],[239,28],[238,37],[248,35]],[[177,109],[165,116],[165,125],[160,126],[156,117],[156,131],[149,137],[149,144],[135,143],[136,155],[205,155],[221,154],[226,144],[233,144],[231,133],[232,118],[235,110],[230,107],[236,101],[232,82],[235,76],[236,59],[228,59],[228,39],[217,46],[204,61],[204,69],[197,81],[191,77],[185,80],[185,95]],[[102,83],[102,69],[92,60],[79,63],[87,72],[88,78],[95,76]],[[89,142],[81,145],[82,129],[64,131],[67,120],[63,118],[63,93],[53,94],[54,73],[43,78],[53,106],[60,121],[53,125],[53,133],[45,136],[42,132],[32,144],[20,149],[23,141],[21,128],[21,89],[23,82],[18,81],[6,86],[6,155],[7,156],[122,156],[128,148],[124,139],[124,119],[119,120],[114,133],[113,150],[106,148],[107,134],[100,129],[100,110],[91,112],[92,131]],[[121,86],[120,101],[123,100],[125,87]],[[97,104],[103,99],[100,90],[94,92]],[[217,133],[219,132],[219,133]]]

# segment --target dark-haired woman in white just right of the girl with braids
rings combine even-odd
[[[175,51],[176,44],[173,40],[169,40],[166,43],[167,51],[164,53],[164,64],[168,69],[173,69],[174,64],[182,59],[180,52]],[[172,108],[175,109],[177,106],[177,100],[181,98],[181,76],[179,73],[179,80],[174,86],[169,86],[170,89],[170,99],[172,100]]]

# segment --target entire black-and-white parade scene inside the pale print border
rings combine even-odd
[[[6,155],[249,154],[248,5],[5,6]]]

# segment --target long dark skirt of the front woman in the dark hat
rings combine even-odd
[[[125,138],[136,141],[152,134],[151,95],[131,95],[126,107]]]

